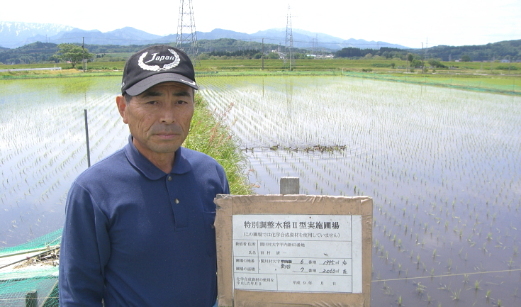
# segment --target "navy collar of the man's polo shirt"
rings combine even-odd
[[[139,169],[139,171],[150,180],[157,180],[164,177],[166,173],[156,167],[152,162],[150,162],[150,160],[142,155],[138,148],[135,147],[132,140],[132,135],[129,135],[128,144],[123,147],[123,151],[127,156],[128,162],[130,162],[130,164],[132,164],[135,168]],[[174,167],[172,167],[170,174],[184,174],[190,171],[191,165],[190,162],[186,159],[186,150],[184,150],[183,147],[179,147],[179,149],[176,150],[176,155],[174,157]]]

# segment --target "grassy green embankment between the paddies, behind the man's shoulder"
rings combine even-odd
[[[223,165],[234,195],[252,194],[245,174],[247,159],[239,148],[239,140],[230,134],[224,114],[215,114],[200,94],[196,94],[196,108],[190,125],[190,133],[184,147],[204,152]]]

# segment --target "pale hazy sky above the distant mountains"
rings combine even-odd
[[[187,1],[187,0],[184,0]],[[59,23],[108,32],[130,26],[145,32],[177,33],[179,0],[30,0],[6,1],[0,21]],[[31,4],[30,2],[34,2]],[[521,39],[521,0],[309,1],[192,0],[196,30],[215,28],[255,33],[292,28],[338,38],[375,40],[421,48],[435,45],[483,45]]]

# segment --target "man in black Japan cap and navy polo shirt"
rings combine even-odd
[[[69,190],[60,306],[214,306],[213,199],[229,187],[213,158],[181,147],[196,89],[176,48],[155,45],[126,63],[116,104],[129,142]]]

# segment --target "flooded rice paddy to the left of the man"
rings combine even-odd
[[[91,163],[127,142],[116,109],[118,78],[0,82],[0,248],[63,227],[67,191]]]

